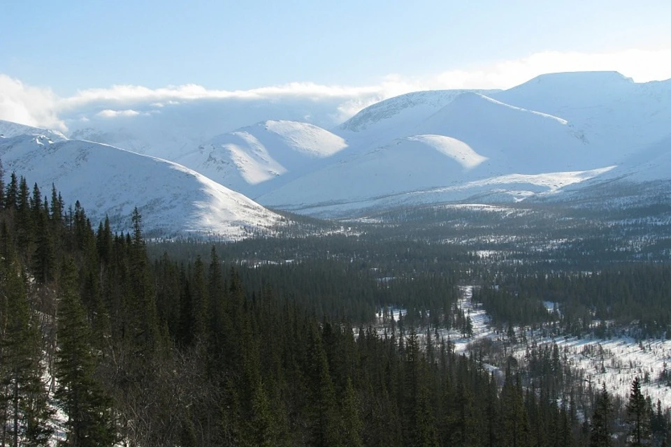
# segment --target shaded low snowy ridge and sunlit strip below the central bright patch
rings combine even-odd
[[[307,175],[259,197],[259,203],[317,217],[345,217],[366,210],[463,200],[511,203],[531,196],[557,193],[565,186],[584,182],[614,168],[509,174],[469,181],[462,165],[454,163],[452,157],[445,156],[442,151],[434,151],[435,156],[421,156],[424,155],[421,149],[426,150],[424,140],[407,138],[405,141],[378,149],[351,163],[338,163]],[[423,146],[410,146],[409,142]],[[380,154],[383,150],[391,153]],[[414,171],[410,170],[410,166]],[[366,171],[373,169],[377,172],[366,175]],[[382,175],[385,172],[388,175]],[[314,180],[314,184],[306,185],[306,180]],[[329,189],[328,185],[333,182],[342,183],[338,189]],[[425,186],[441,182],[451,184]],[[361,191],[370,193],[370,196],[363,196]]]

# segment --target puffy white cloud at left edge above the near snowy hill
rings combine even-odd
[[[0,73],[0,119],[64,131],[56,112],[57,101],[51,89],[30,87]]]

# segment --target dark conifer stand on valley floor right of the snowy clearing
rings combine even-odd
[[[499,322],[554,321],[570,335],[594,332],[605,337],[623,328],[634,328],[638,337],[671,335],[671,266],[667,264],[618,265],[593,273],[510,275],[498,283],[479,288],[474,299]],[[556,306],[548,309],[543,302]]]

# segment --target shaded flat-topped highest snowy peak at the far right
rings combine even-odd
[[[621,161],[669,133],[671,80],[636,83],[616,72],[553,73],[492,95],[567,119]]]

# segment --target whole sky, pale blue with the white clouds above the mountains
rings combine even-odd
[[[2,3],[0,119],[31,125],[62,125],[101,98],[340,95],[365,105],[554,71],[671,78],[663,0]]]

